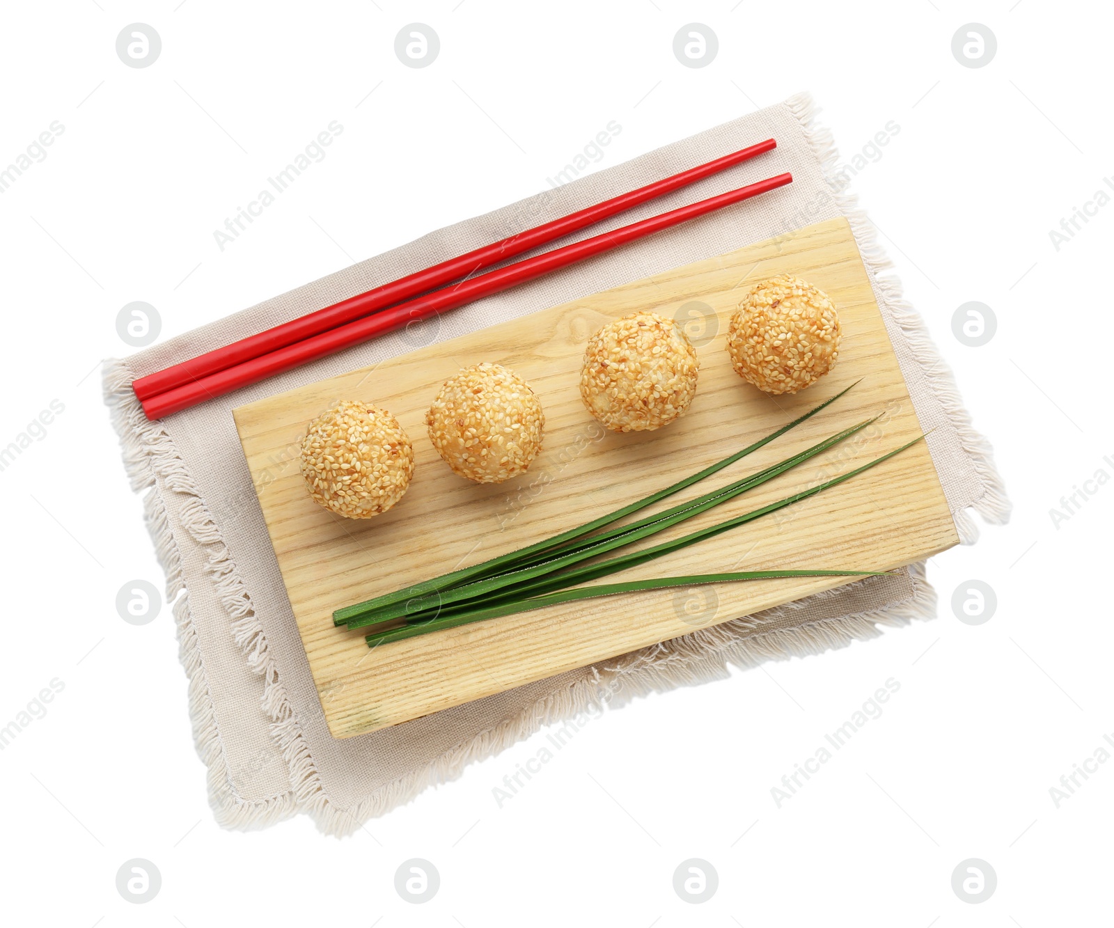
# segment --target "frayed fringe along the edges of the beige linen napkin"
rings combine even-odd
[[[970,416],[962,407],[949,369],[937,353],[922,320],[905,300],[900,284],[896,277],[882,275],[892,265],[878,243],[866,213],[857,208],[857,198],[852,194],[836,192],[833,172],[838,166],[839,155],[831,131],[815,124],[815,107],[810,95],[799,94],[784,105],[800,123],[832,191],[833,202],[851,225],[871,282],[892,311],[918,364],[925,371],[934,393],[976,468],[983,495],[971,508],[988,522],[1004,524],[1008,519],[1010,505],[995,470],[989,442],[971,426]],[[758,631],[763,623],[751,616],[702,628],[684,637],[624,655],[616,658],[616,663],[590,667],[585,680],[550,693],[518,715],[446,751],[424,768],[381,787],[365,800],[351,807],[340,807],[329,798],[321,783],[302,727],[268,653],[251,597],[219,530],[174,442],[159,423],[149,422],[144,416],[131,391],[133,379],[134,374],[123,361],[106,362],[105,398],[113,410],[114,424],[120,436],[131,487],[137,492],[149,489],[145,499],[147,526],[159,563],[166,570],[168,600],[179,597],[174,603],[174,614],[182,662],[189,678],[189,711],[194,736],[197,752],[208,771],[211,804],[217,821],[228,828],[257,828],[303,811],[313,818],[323,832],[349,834],[358,830],[365,820],[408,802],[431,785],[459,776],[469,763],[512,746],[544,725],[574,719],[589,709],[618,706],[653,692],[723,680],[730,675],[730,666],[747,668],[770,660],[803,657],[846,647],[856,641],[878,637],[882,634],[882,626],[907,625],[915,618],[929,619],[936,614],[936,594],[925,578],[925,565],[921,563],[907,568],[910,595],[879,609],[820,619],[793,628]],[[233,637],[243,649],[248,666],[263,677],[263,711],[271,720],[271,734],[290,768],[290,792],[248,801],[242,799],[234,789],[197,646],[188,593],[184,593],[180,555],[170,533],[162,498],[164,487],[188,497],[183,505],[183,524],[195,543],[206,550],[207,573],[231,618]],[[957,511],[954,512],[954,518],[962,541],[974,543],[978,537],[978,529],[971,517],[966,511]],[[834,595],[837,592],[830,590],[819,596]],[[814,597],[786,604],[782,608],[803,608],[802,604],[810,600],[814,602]]]

